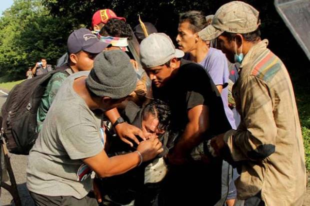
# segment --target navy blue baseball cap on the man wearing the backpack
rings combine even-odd
[[[79,51],[88,53],[100,53],[109,44],[100,41],[96,35],[86,28],[74,30],[68,37],[67,48],[69,54],[75,54]]]

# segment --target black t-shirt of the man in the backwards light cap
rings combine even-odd
[[[196,63],[181,59],[177,72],[160,88],[152,86],[153,97],[167,102],[171,109],[172,131],[185,129],[187,111],[198,105],[209,108],[207,137],[231,129],[219,92],[207,72]]]

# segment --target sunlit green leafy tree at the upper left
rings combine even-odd
[[[24,77],[41,57],[48,63],[66,50],[67,22],[54,18],[40,0],[14,0],[0,18],[0,73]]]

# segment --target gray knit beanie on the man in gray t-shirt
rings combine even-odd
[[[87,88],[99,97],[120,99],[136,87],[137,76],[128,55],[121,50],[103,51],[86,78]]]

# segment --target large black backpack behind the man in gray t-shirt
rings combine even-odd
[[[36,138],[36,113],[42,95],[56,72],[69,76],[71,69],[65,65],[46,74],[38,75],[17,84],[9,92],[0,113],[1,135],[10,153],[28,155]]]

